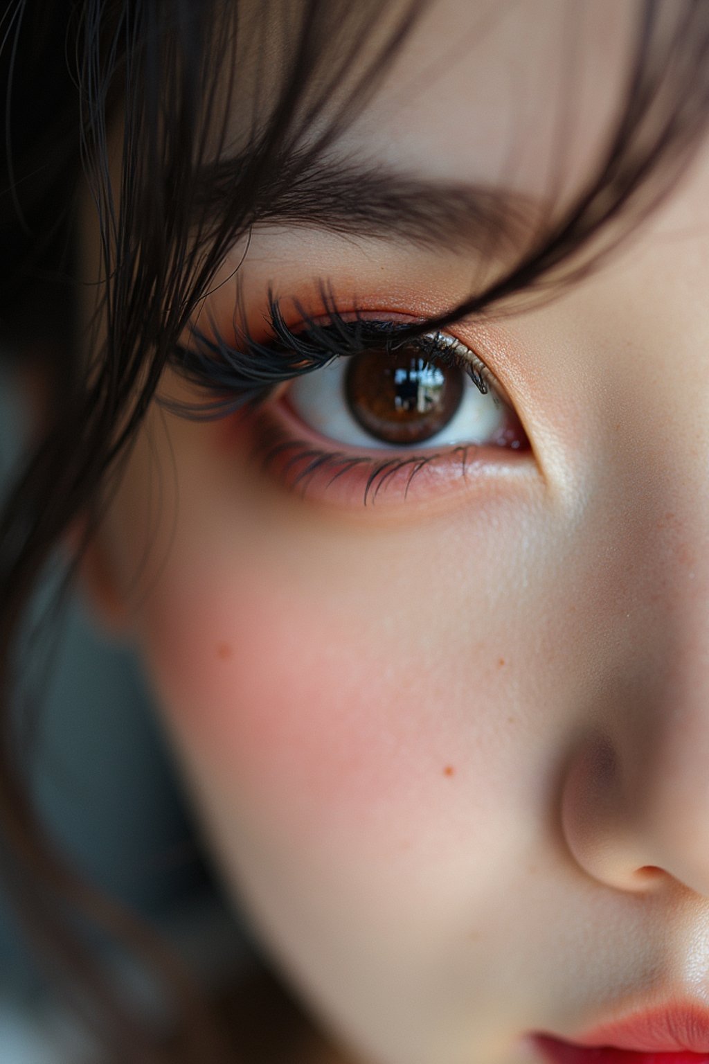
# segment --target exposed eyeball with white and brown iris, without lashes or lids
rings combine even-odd
[[[523,430],[490,377],[465,345],[436,334],[335,359],[293,381],[285,401],[309,429],[352,448],[520,448]]]

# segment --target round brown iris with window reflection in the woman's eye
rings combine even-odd
[[[445,428],[462,388],[461,369],[426,362],[413,345],[353,355],[344,383],[359,425],[377,439],[404,445],[421,444]]]

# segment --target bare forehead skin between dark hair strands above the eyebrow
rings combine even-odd
[[[432,0],[339,148],[543,195],[603,147],[639,14],[635,0]]]

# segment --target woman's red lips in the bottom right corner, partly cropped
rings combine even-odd
[[[634,1012],[567,1042],[534,1036],[553,1064],[709,1064],[709,1009],[687,1004]]]

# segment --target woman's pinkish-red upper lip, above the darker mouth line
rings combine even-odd
[[[558,1035],[555,1035],[558,1037]],[[709,1052],[709,1008],[674,1002],[640,1009],[623,1019],[601,1024],[572,1040],[581,1046],[609,1046],[644,1052]]]

